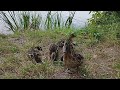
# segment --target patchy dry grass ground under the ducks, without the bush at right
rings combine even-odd
[[[120,46],[99,43],[87,46],[78,36],[75,49],[85,59],[79,73],[69,74],[61,62],[53,64],[49,60],[48,48],[51,43],[65,38],[63,33],[0,35],[0,78],[15,79],[116,79],[120,78]],[[31,46],[43,48],[43,64],[33,64],[26,56]]]

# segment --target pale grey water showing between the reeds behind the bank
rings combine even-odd
[[[48,11],[31,11],[31,13],[39,13],[42,16],[42,19],[45,20],[47,16]],[[52,11],[54,14],[56,11]],[[66,21],[67,17],[69,16],[68,11],[62,11],[62,18],[64,21]],[[89,11],[76,11],[75,16],[73,18],[73,27],[81,28],[84,27],[87,24],[87,19],[91,18],[91,14],[89,14]],[[0,20],[0,33],[2,34],[12,34],[12,31],[9,31],[8,28],[6,28],[6,24]]]

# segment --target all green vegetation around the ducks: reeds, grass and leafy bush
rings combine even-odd
[[[20,12],[21,13],[21,12]],[[120,78],[120,13],[119,11],[94,11],[88,20],[88,26],[72,29],[71,23],[75,12],[70,12],[66,22],[62,21],[61,13],[48,12],[45,30],[40,24],[42,17],[37,14],[31,17],[29,12],[22,12],[17,21],[15,12],[9,12],[12,19],[1,12],[3,20],[13,35],[0,34],[0,78],[55,78],[56,73],[62,76],[63,63],[52,63],[48,58],[48,48],[69,34],[75,33],[75,50],[84,57],[80,67],[81,76],[96,79]],[[23,30],[23,32],[20,32]],[[61,37],[62,36],[62,37]],[[33,64],[26,56],[26,51],[40,45],[43,47],[43,64]],[[57,77],[58,77],[57,76]],[[60,78],[60,77],[59,77]],[[63,77],[69,78],[69,76]]]

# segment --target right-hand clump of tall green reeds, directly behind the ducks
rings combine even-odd
[[[66,21],[63,21],[61,13],[62,13],[62,11],[60,13],[56,12],[54,14],[52,14],[51,11],[49,11],[47,13],[47,17],[46,17],[46,21],[45,21],[46,29],[56,29],[56,28],[63,29],[63,28],[71,27],[72,20],[75,15],[75,11],[69,12],[69,16]]]

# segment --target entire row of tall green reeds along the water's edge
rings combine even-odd
[[[45,23],[43,23],[43,29],[45,30],[70,28],[75,11],[69,12],[69,16],[67,17],[66,21],[63,20],[61,13],[62,11],[56,11],[55,13],[48,11],[46,18],[43,21],[42,16],[37,13],[31,14],[30,11],[1,11],[0,17],[7,24],[7,27],[13,32],[41,29],[42,27],[40,26],[42,26],[42,22],[44,21]]]

